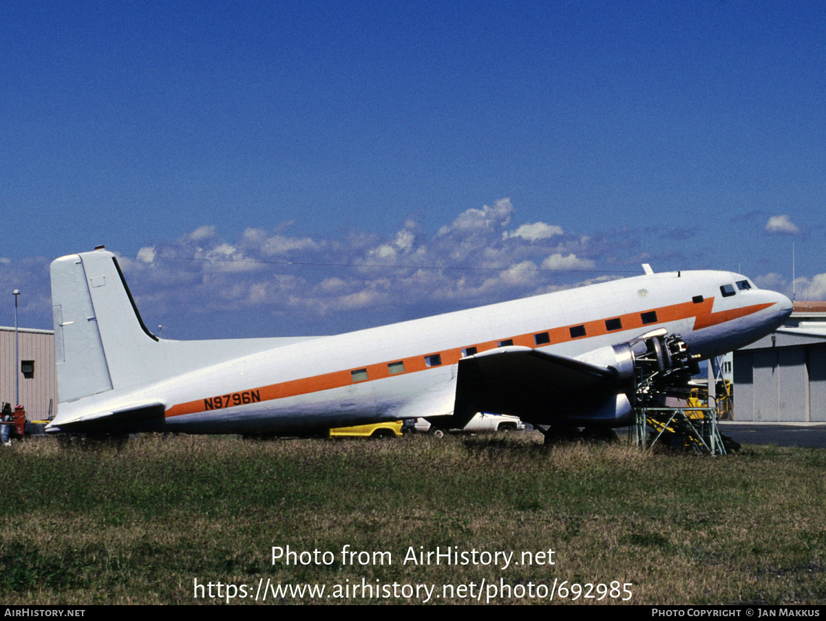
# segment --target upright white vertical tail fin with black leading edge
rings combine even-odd
[[[140,319],[114,254],[55,259],[51,287],[61,403],[150,379],[158,338]]]

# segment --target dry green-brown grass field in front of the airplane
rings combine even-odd
[[[415,586],[435,585],[430,602],[480,593],[529,604],[547,601],[554,581],[554,601],[578,591],[577,603],[628,597],[606,594],[612,582],[630,583],[634,604],[826,602],[822,450],[695,457],[624,443],[544,447],[534,433],[145,436],[121,447],[42,438],[0,450],[0,468],[6,604],[216,603],[228,584],[233,602],[253,603],[267,580],[325,585],[315,597],[268,594],[284,603],[418,603],[426,591]],[[273,546],[319,553],[273,564]],[[345,546],[368,554],[348,561]],[[477,562],[404,562],[411,548],[448,547],[468,559],[476,550]],[[543,551],[533,563],[521,556]],[[504,566],[479,552],[514,555]],[[372,598],[351,588],[364,583]]]

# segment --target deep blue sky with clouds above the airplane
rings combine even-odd
[[[0,325],[19,288],[50,327],[49,262],[97,244],[170,338],[642,262],[791,293],[793,244],[798,299],[826,299],[824,26],[819,2],[3,2]]]

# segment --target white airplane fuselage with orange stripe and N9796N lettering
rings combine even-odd
[[[54,426],[145,404],[163,406],[163,429],[190,433],[288,433],[449,415],[464,357],[522,347],[577,358],[665,328],[709,358],[771,332],[790,307],[738,274],[675,272],[329,337],[262,339],[245,354],[245,341],[139,336],[131,359],[107,364],[112,390],[61,399]],[[122,326],[99,324],[108,361],[118,354],[109,355],[107,330]]]

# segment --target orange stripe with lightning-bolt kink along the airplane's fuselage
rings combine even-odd
[[[484,351],[487,351],[488,349],[495,349],[502,340],[508,339],[512,339],[514,345],[521,345],[523,347],[529,348],[548,347],[548,345],[560,344],[565,343],[567,341],[578,339],[591,339],[596,336],[603,336],[605,334],[609,334],[609,330],[605,326],[605,321],[610,319],[619,319],[622,323],[621,329],[611,330],[612,332],[620,332],[629,329],[643,329],[648,327],[653,328],[653,326],[657,324],[690,319],[691,317],[695,317],[694,329],[698,330],[703,328],[709,328],[713,325],[719,325],[726,321],[738,319],[739,317],[744,317],[746,315],[751,315],[752,313],[755,313],[758,310],[763,310],[768,306],[771,306],[771,303],[757,304],[754,306],[745,306],[743,308],[735,308],[731,310],[720,310],[714,313],[711,312],[711,309],[714,307],[714,297],[710,297],[696,304],[695,302],[690,301],[683,302],[681,304],[673,304],[672,306],[662,306],[660,308],[640,310],[638,312],[626,313],[624,315],[610,315],[608,317],[605,317],[605,319],[586,321],[582,324],[564,325],[558,328],[539,329],[535,332],[519,334],[513,337],[503,336],[501,339],[497,339],[495,341],[468,344],[465,347],[476,347],[477,352],[482,353]],[[650,313],[652,311],[657,313],[657,321],[654,323],[643,324],[642,315],[644,315],[645,313]],[[572,338],[570,330],[572,327],[578,325],[585,326],[586,334],[585,336]],[[550,342],[540,345],[535,344],[534,334],[542,334],[544,332],[548,332]],[[173,405],[168,410],[166,410],[166,415],[168,417],[172,417],[186,414],[198,414],[201,412],[205,412],[207,410],[221,410],[226,407],[239,405],[236,402],[234,402],[230,397],[233,397],[235,395],[243,395],[244,393],[250,392],[257,393],[257,396],[260,397],[260,401],[275,401],[278,399],[284,399],[291,396],[308,395],[313,392],[328,391],[333,388],[341,388],[343,386],[353,386],[354,383],[361,383],[354,382],[352,375],[353,371],[357,371],[359,369],[367,370],[368,379],[364,380],[365,382],[373,382],[375,380],[383,379],[385,377],[401,376],[406,373],[425,371],[426,369],[430,368],[427,367],[427,365],[425,364],[425,357],[430,356],[434,353],[438,353],[439,356],[441,356],[442,364],[440,366],[444,367],[446,365],[458,363],[459,359],[462,358],[462,349],[463,348],[453,348],[444,351],[423,353],[420,356],[411,356],[408,358],[394,358],[384,363],[368,364],[363,367],[353,367],[345,369],[343,371],[324,373],[322,375],[304,377],[289,382],[280,382],[278,384],[270,384],[269,386],[261,386],[260,388],[253,389],[252,391],[241,391],[230,393],[229,395],[211,396],[205,399],[198,399],[197,401],[189,401],[188,403]],[[398,362],[404,363],[405,370],[402,373],[397,373],[394,376],[391,376],[387,365]],[[218,407],[215,407],[214,405],[212,407],[207,407],[207,401],[214,402],[214,400],[218,400],[219,398],[221,398],[221,401],[218,401],[218,403],[221,405],[219,405]],[[224,403],[226,403],[227,405],[223,405]]]

